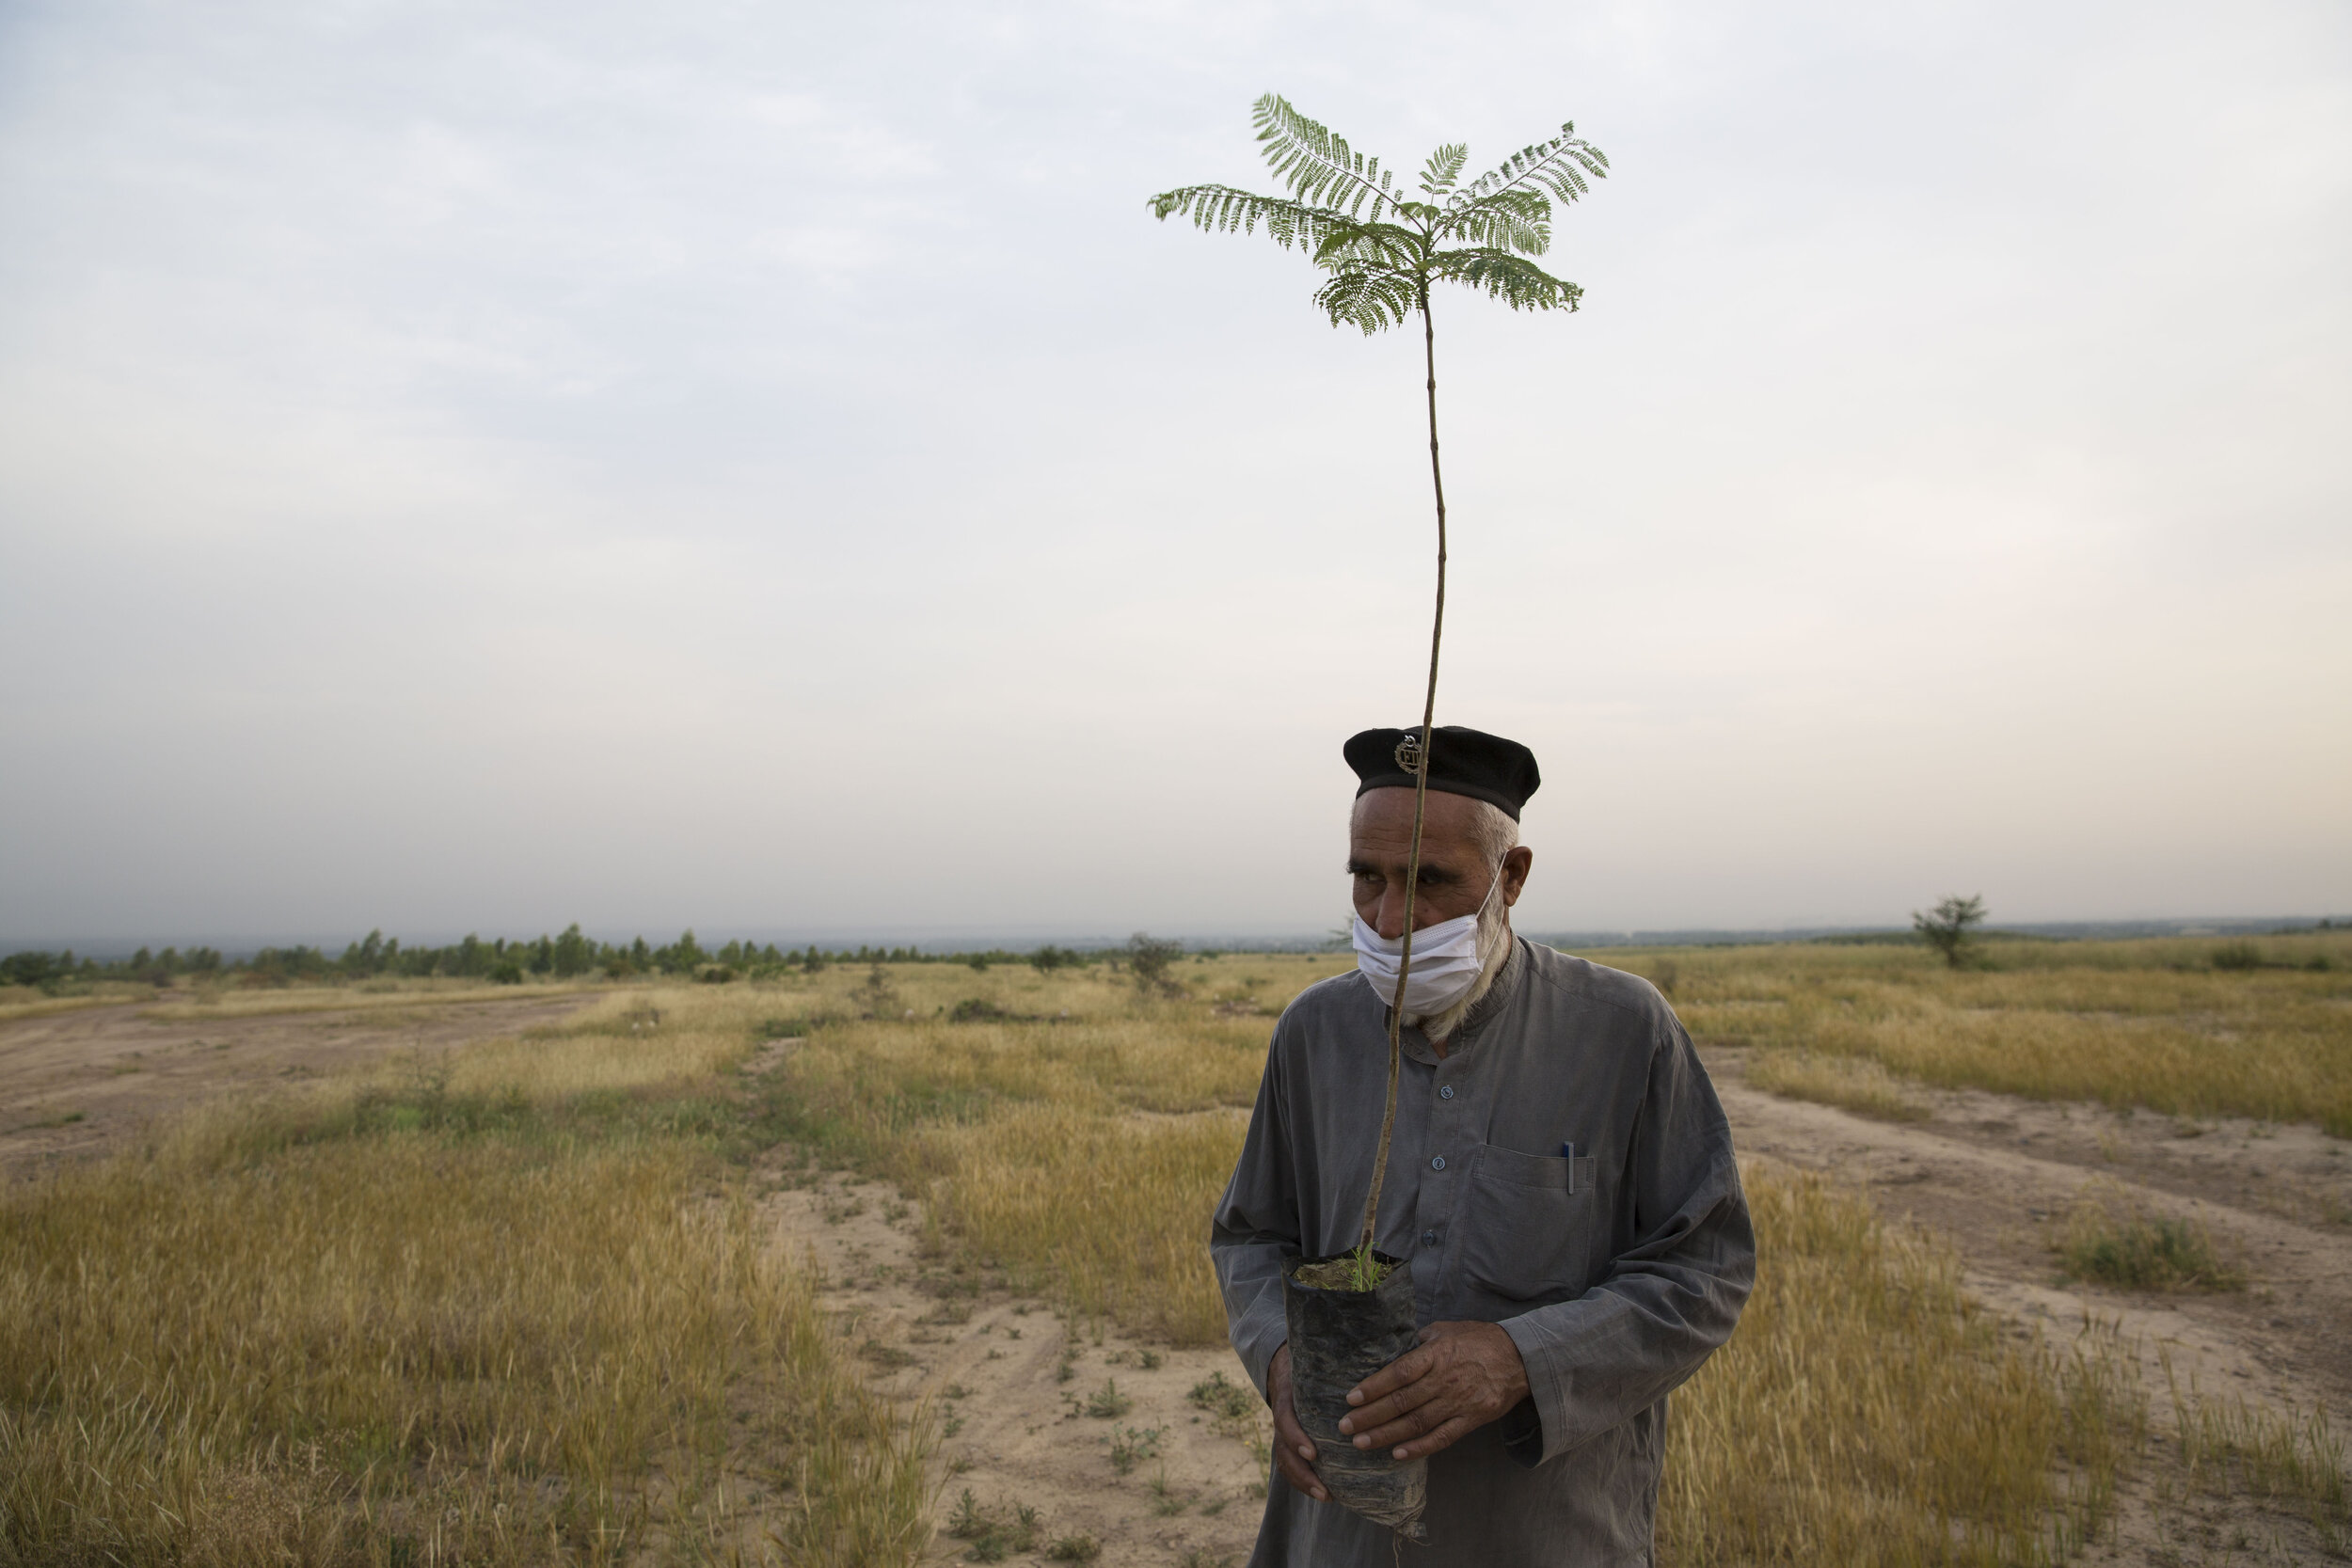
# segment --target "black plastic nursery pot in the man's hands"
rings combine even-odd
[[[1315,1443],[1315,1474],[1341,1507],[1385,1523],[1406,1540],[1428,1540],[1421,1507],[1430,1493],[1430,1462],[1390,1458],[1388,1448],[1357,1448],[1338,1422],[1352,1410],[1348,1389],[1409,1352],[1414,1272],[1402,1258],[1374,1253],[1388,1274],[1371,1291],[1324,1291],[1301,1284],[1298,1269],[1334,1258],[1291,1258],[1282,1265],[1282,1319],[1291,1331],[1291,1406]]]

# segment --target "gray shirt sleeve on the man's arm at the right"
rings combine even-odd
[[[1503,1321],[1541,1425],[1505,1418],[1505,1446],[1524,1465],[1571,1453],[1682,1385],[1731,1338],[1755,1286],[1731,1128],[1679,1023],[1651,1058],[1625,1180],[1637,1239],[1609,1274]]]

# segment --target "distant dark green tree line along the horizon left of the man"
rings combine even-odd
[[[1169,952],[1181,952],[1174,943]],[[381,976],[405,978],[452,978],[489,980],[494,985],[520,985],[527,976],[574,980],[602,973],[612,980],[630,976],[691,976],[699,980],[771,978],[783,971],[816,973],[830,964],[967,964],[985,971],[995,964],[1028,964],[1040,973],[1077,969],[1096,961],[1098,954],[1073,947],[1044,945],[1033,952],[988,947],[978,952],[922,952],[920,947],[858,947],[823,950],[809,943],[802,950],[779,950],[776,943],[731,940],[720,947],[703,947],[689,926],[675,943],[654,947],[642,936],[628,945],[600,943],[586,936],[579,924],[564,926],[562,936],[539,940],[510,940],[466,936],[447,947],[402,945],[397,936],[369,931],[343,947],[341,957],[329,957],[325,947],[296,943],[292,947],[263,947],[252,957],[223,959],[214,947],[165,947],[153,952],[141,947],[127,959],[94,959],[64,952],[14,952],[0,959],[0,985],[33,985],[49,992],[75,980],[143,980],[169,985],[181,976],[221,978],[245,985],[322,985],[329,980],[372,980]],[[1112,959],[1117,964],[1117,959]]]

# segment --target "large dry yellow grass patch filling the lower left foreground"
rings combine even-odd
[[[910,1561],[922,1432],[607,1027],[0,1192],[0,1563]]]

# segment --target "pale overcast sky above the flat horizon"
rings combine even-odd
[[[1489,167],[1439,719],[1529,929],[2352,907],[2352,12],[0,5],[0,938],[1319,931]]]

